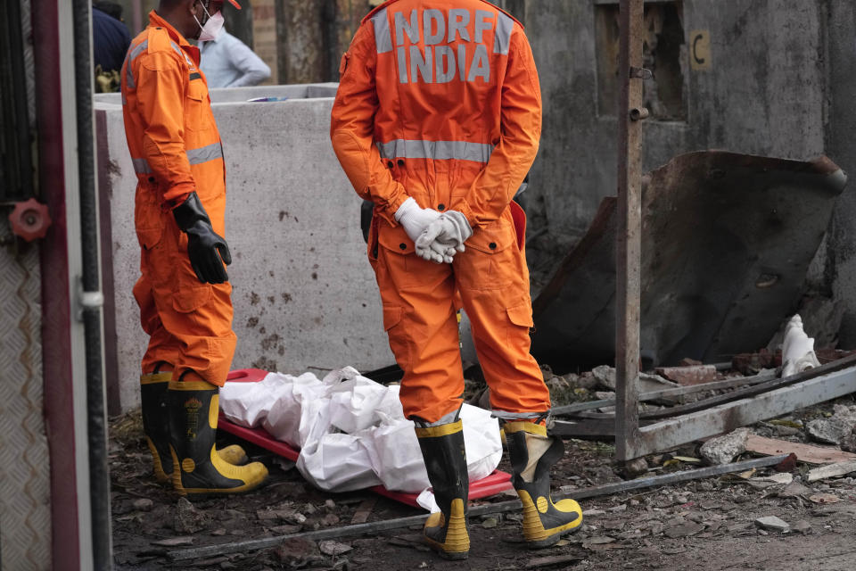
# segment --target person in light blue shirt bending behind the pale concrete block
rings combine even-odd
[[[200,45],[200,68],[208,87],[255,86],[270,77],[268,64],[225,29],[217,39]]]

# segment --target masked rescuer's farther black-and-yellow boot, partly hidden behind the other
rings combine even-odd
[[[154,477],[158,482],[172,482],[172,455],[169,453],[169,414],[167,389],[172,371],[155,372],[140,377],[140,398],[143,412],[143,431],[149,451],[152,452]],[[221,459],[240,466],[246,463],[247,453],[237,444],[217,451]]]

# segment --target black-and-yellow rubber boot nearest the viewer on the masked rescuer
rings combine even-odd
[[[248,492],[268,476],[261,462],[234,466],[214,447],[219,387],[205,381],[170,381],[167,392],[172,483],[181,494]]]

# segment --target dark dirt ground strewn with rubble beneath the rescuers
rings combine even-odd
[[[854,404],[852,396],[837,401]],[[833,403],[787,418],[828,416]],[[783,437],[779,426],[760,423],[756,434]],[[786,438],[805,442],[801,431]],[[235,443],[220,434],[221,444]],[[242,443],[243,444],[243,443]],[[698,443],[647,458],[655,476],[695,468],[674,456],[699,458]],[[620,482],[610,443],[566,440],[556,466],[554,492]],[[187,502],[156,484],[139,415],[111,421],[111,481],[115,568],[138,569],[791,569],[856,568],[856,478],[807,484],[799,464],[794,483],[772,484],[721,476],[581,501],[583,526],[559,545],[526,550],[514,512],[470,519],[469,559],[439,559],[419,541],[421,525],[393,531],[311,542],[290,540],[267,550],[240,550],[172,562],[168,553],[202,546],[247,542],[285,534],[424,514],[373,492],[328,493],[307,484],[292,463],[245,446],[270,469],[268,484],[230,498]],[[749,459],[745,454],[741,459]],[[499,469],[509,471],[506,460]],[[762,468],[752,476],[775,474]],[[744,475],[749,476],[749,475]],[[850,476],[856,476],[851,474]],[[512,492],[514,493],[514,492]],[[486,502],[508,501],[499,494]],[[481,502],[480,502],[481,503]],[[764,529],[760,517],[786,522],[786,532]],[[305,518],[305,519],[304,519]]]

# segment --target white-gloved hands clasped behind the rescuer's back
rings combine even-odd
[[[473,228],[461,212],[440,213],[421,208],[413,198],[407,198],[399,206],[395,219],[416,244],[416,255],[438,264],[451,263],[457,252],[464,252],[464,243],[473,236]]]

